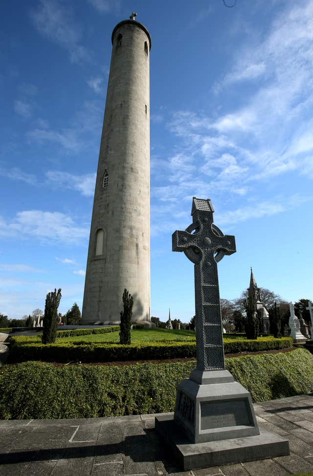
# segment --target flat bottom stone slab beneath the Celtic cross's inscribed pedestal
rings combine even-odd
[[[157,416],[155,421],[157,433],[184,471],[290,454],[287,439],[265,430],[253,436],[191,443],[173,413]]]

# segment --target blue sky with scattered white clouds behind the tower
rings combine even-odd
[[[115,24],[152,37],[151,313],[189,321],[193,265],[171,235],[192,196],[236,237],[220,294],[250,266],[287,301],[313,299],[313,0],[4,1],[0,28],[0,313],[82,306]]]

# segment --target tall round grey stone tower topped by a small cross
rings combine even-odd
[[[150,322],[150,100],[148,30],[112,32],[112,58],[94,192],[82,321],[119,323],[124,288],[133,320]]]

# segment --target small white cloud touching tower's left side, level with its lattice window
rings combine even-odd
[[[48,171],[47,180],[58,186],[67,189],[77,190],[82,195],[93,196],[96,181],[96,173],[87,173],[85,175],[73,175],[67,172]]]

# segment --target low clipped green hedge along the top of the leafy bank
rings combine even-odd
[[[134,342],[131,345],[105,342],[72,341],[43,345],[39,337],[10,336],[9,362],[42,360],[45,362],[114,362],[127,360],[177,359],[196,356],[196,342]],[[225,353],[274,350],[292,345],[291,337],[259,338],[257,341],[225,340]]]

